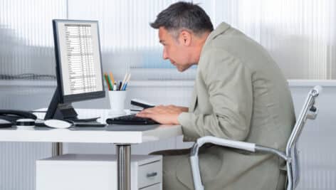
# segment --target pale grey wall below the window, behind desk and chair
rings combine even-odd
[[[128,100],[140,97],[154,103],[188,105],[192,90],[192,82],[181,82],[172,85],[167,82],[133,83],[129,87]],[[336,143],[335,134],[335,81],[290,81],[290,90],[293,95],[295,112],[298,115],[310,88],[322,84],[324,89],[317,100],[320,108],[319,115],[314,121],[308,122],[299,140],[300,162],[302,178],[298,189],[336,189],[336,152],[333,144]],[[51,98],[53,85],[26,86],[11,88],[10,83],[0,83],[1,89],[6,90],[0,94],[1,107],[26,107],[36,109],[46,107]],[[162,86],[163,85],[163,86]],[[15,90],[16,89],[16,90]],[[6,97],[6,99],[2,99]],[[36,100],[36,97],[38,100]],[[19,100],[19,101],[18,101]],[[43,104],[36,102],[45,102]],[[76,108],[108,108],[108,100],[94,100],[78,102]],[[21,108],[22,109],[22,108]],[[189,147],[184,144],[182,137],[166,139],[161,142],[144,143],[132,146],[133,154],[148,154],[159,149],[175,149]],[[35,159],[51,156],[50,143],[0,143],[0,190],[33,190]],[[65,144],[64,152],[71,153],[110,153],[114,154],[112,144]]]

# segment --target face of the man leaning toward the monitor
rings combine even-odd
[[[189,61],[189,48],[180,35],[175,39],[164,27],[159,27],[159,42],[163,45],[163,58],[169,59],[180,72],[194,64]]]

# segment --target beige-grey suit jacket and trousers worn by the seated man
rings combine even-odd
[[[189,112],[179,115],[185,141],[211,135],[285,149],[295,124],[288,83],[258,43],[221,23],[201,51]],[[283,189],[283,161],[207,146],[200,154],[206,189]],[[188,159],[177,178],[193,189]]]

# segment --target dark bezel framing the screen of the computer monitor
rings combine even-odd
[[[61,51],[59,45],[59,33],[58,33],[58,23],[96,23],[97,24],[97,31],[98,31],[98,51],[100,57],[100,73],[102,80],[102,90],[95,91],[91,93],[79,93],[75,95],[64,95],[63,90],[63,75],[62,75],[62,65],[61,65]],[[91,100],[96,98],[105,97],[105,89],[104,89],[104,81],[103,81],[103,62],[102,62],[102,55],[100,50],[100,35],[99,35],[99,24],[98,21],[91,21],[91,20],[68,20],[68,19],[53,19],[53,38],[55,44],[55,57],[56,57],[56,78],[57,78],[57,85],[58,85],[58,93],[59,94],[59,102],[60,103],[70,103],[70,102],[78,102],[83,100]]]

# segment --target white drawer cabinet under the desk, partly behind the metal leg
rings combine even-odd
[[[132,155],[130,167],[132,190],[162,190],[161,156]],[[111,154],[63,154],[38,160],[36,190],[46,189],[117,190],[117,157]]]

